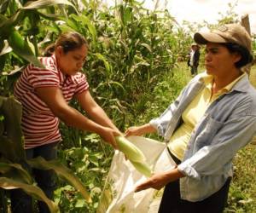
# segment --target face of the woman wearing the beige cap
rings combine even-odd
[[[230,53],[229,49],[219,43],[207,43],[205,66],[209,75],[230,75],[230,72],[236,69],[235,63],[240,59],[241,55]]]

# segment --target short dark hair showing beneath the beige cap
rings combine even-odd
[[[241,68],[242,66],[246,66],[247,64],[253,61],[253,55],[250,54],[248,49],[237,44],[237,43],[221,43],[229,49],[230,53],[238,53],[241,55],[241,60],[235,63],[236,68]]]

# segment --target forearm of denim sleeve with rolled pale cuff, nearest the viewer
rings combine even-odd
[[[230,162],[236,152],[247,145],[256,132],[254,115],[230,118],[209,142],[187,158],[177,169],[185,176],[200,180],[201,176],[224,175],[230,170]]]

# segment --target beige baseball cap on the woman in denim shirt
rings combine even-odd
[[[211,43],[237,43],[252,51],[252,40],[246,29],[239,24],[219,26],[211,32],[196,32],[194,40],[199,44]]]

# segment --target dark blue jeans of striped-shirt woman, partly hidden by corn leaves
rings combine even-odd
[[[52,160],[57,158],[57,145],[59,141],[49,143],[43,146],[26,149],[26,158],[37,158],[38,156],[43,157],[46,160]],[[27,170],[29,170],[35,178],[35,181],[38,183],[38,187],[40,187],[45,195],[49,199],[53,199],[54,190],[56,187],[55,181],[55,172],[53,170],[36,170],[32,169],[28,164],[23,164]],[[12,213],[32,213],[33,205],[32,205],[32,197],[27,195],[21,189],[11,190],[10,193],[11,199],[11,210]],[[42,202],[38,201],[38,210],[41,213],[48,213],[48,206]]]

